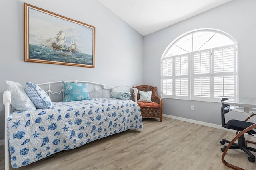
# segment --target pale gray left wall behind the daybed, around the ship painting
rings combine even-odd
[[[96,27],[95,68],[24,62],[23,2]],[[142,35],[97,0],[2,0],[0,16],[0,140],[4,139],[5,80],[22,86],[74,79],[108,87],[143,83]]]

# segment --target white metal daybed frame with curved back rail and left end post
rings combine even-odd
[[[137,103],[137,93],[138,89],[130,87],[130,86],[116,86],[114,88],[107,88],[105,84],[95,83],[95,82],[87,82],[87,81],[78,81],[78,80],[67,80],[65,82],[80,82],[80,83],[88,83],[88,91],[89,96],[91,98],[101,98],[101,97],[110,97],[110,93],[112,91],[122,91],[122,92],[128,92],[129,96],[136,96],[135,102]],[[47,82],[47,83],[41,83],[36,84],[40,86],[45,92],[48,93],[51,100],[53,96],[58,96],[58,100],[56,98],[53,98],[52,101],[62,101],[64,100],[64,86],[62,81],[56,81],[56,82]],[[54,89],[54,90],[52,90]],[[56,89],[56,90],[55,90]],[[133,91],[132,91],[133,90]],[[132,91],[132,92],[131,92]],[[62,96],[62,98],[60,98]],[[7,119],[12,111],[11,107],[11,92],[5,91],[3,94],[3,103],[4,103],[4,110],[5,110],[5,124],[4,124],[4,158],[5,158],[5,170],[9,170],[10,166],[10,151],[9,151],[9,143],[8,143],[8,134],[7,134]]]

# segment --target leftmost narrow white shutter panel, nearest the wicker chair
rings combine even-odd
[[[173,57],[162,59],[162,96],[173,98]]]

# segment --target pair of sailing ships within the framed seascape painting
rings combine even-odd
[[[66,45],[66,36],[64,32],[61,30],[57,34],[57,37],[55,37],[55,42],[52,43],[52,48],[54,50],[61,50],[61,51],[68,51],[68,52],[76,52],[76,42],[75,39],[73,39],[70,43],[70,45]]]

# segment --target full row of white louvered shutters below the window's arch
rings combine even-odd
[[[162,58],[162,97],[220,102],[237,96],[236,45]]]

